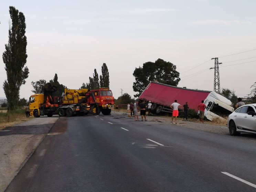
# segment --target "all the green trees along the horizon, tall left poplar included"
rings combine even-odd
[[[20,87],[26,83],[26,79],[29,77],[29,69],[26,64],[26,46],[27,38],[25,35],[26,23],[25,16],[22,12],[15,9],[15,7],[9,7],[9,13],[11,17],[11,23],[9,24],[9,39],[5,44],[5,51],[2,58],[5,64],[5,70],[7,79],[3,83],[4,93],[8,101],[8,110],[14,110],[21,105],[21,100],[24,102],[25,98],[20,99]],[[180,79],[180,73],[176,70],[176,65],[171,62],[158,59],[155,62],[146,62],[143,66],[136,67],[133,73],[135,82],[133,82],[132,88],[137,94],[135,98],[145,90],[147,85],[151,81],[168,84],[172,86],[178,86]],[[57,91],[53,96],[61,96],[66,88],[65,85],[58,82],[58,76],[55,74],[54,78],[49,81],[52,85],[57,87]],[[46,80],[40,79],[35,82],[31,82],[33,93],[42,93],[42,88],[46,84]],[[109,72],[106,63],[102,65],[102,75],[98,75],[97,70],[94,69],[93,77],[89,77],[88,83],[83,83],[80,88],[98,89],[100,87],[109,87]],[[252,91],[248,94],[250,103],[256,103],[256,82],[250,87]],[[233,104],[237,101],[235,91],[231,91],[228,88],[223,88],[221,94],[230,99]],[[135,98],[127,93],[116,99],[117,104],[127,104],[134,102]]]

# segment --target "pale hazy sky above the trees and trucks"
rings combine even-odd
[[[8,43],[9,6],[25,16],[29,77],[20,98],[33,94],[31,82],[58,76],[71,89],[89,83],[106,63],[110,89],[118,98],[136,94],[135,68],[158,58],[180,73],[178,87],[214,90],[218,57],[220,88],[238,97],[255,82],[255,0],[3,0],[0,53]],[[7,79],[0,60],[0,97]]]

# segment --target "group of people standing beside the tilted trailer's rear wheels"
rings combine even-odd
[[[134,115],[134,119],[135,121],[140,121],[139,120],[139,111],[138,111],[138,106],[140,107],[140,115],[141,115],[141,121],[143,121],[143,119],[145,119],[145,121],[147,121],[146,119],[146,112],[148,110],[148,115],[151,112],[151,105],[152,103],[149,101],[148,105],[145,104],[145,101],[142,101],[142,103],[139,104],[139,101],[136,100],[135,103],[128,103],[127,104],[127,113],[131,113]]]

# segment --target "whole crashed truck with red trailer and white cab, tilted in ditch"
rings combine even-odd
[[[177,100],[177,103],[181,106],[188,102],[189,108],[196,112],[198,111],[198,105],[204,100],[207,106],[205,117],[209,120],[229,115],[234,111],[234,108],[230,106],[230,100],[215,92],[175,87],[157,82],[150,82],[138,99],[146,102],[151,101],[152,114],[172,113],[170,105],[174,100]]]

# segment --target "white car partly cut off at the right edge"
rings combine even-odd
[[[237,108],[227,118],[230,135],[241,132],[256,134],[256,104],[247,104]]]

